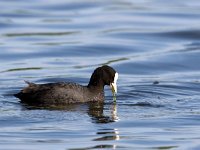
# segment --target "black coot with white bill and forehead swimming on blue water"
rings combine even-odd
[[[112,67],[104,65],[94,70],[87,86],[68,82],[35,84],[26,81],[28,86],[14,96],[23,103],[37,105],[103,101],[105,85],[110,85],[112,92],[117,93],[117,79],[118,73]]]

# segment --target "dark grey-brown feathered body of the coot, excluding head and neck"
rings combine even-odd
[[[98,101],[104,99],[104,92],[95,92],[77,83],[59,82],[47,84],[30,83],[20,93],[15,94],[22,102],[31,104],[68,104]]]

